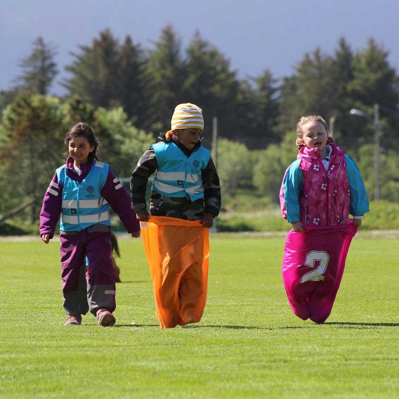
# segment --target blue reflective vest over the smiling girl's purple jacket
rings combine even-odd
[[[61,231],[80,231],[93,224],[111,226],[109,205],[101,195],[108,171],[108,164],[94,161],[80,184],[67,176],[66,164],[55,171],[58,181],[63,185]]]

